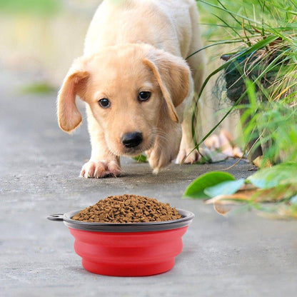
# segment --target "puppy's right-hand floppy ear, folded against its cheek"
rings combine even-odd
[[[191,83],[191,71],[186,61],[162,50],[155,50],[148,59],[144,59],[158,81],[168,107],[172,121],[178,123],[175,107],[181,104]]]

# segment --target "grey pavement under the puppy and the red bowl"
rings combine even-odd
[[[194,178],[234,161],[172,164],[154,176],[147,164],[126,158],[119,178],[79,178],[90,151],[85,121],[74,135],[64,134],[56,94],[21,95],[17,79],[0,79],[0,296],[296,296],[296,221],[251,212],[225,218],[202,201],[181,199]],[[229,172],[247,177],[250,167],[242,162]],[[171,271],[138,278],[89,273],[66,226],[46,220],[121,193],[196,214]]]

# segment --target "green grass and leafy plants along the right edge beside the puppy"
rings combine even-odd
[[[226,199],[273,218],[297,218],[297,1],[200,0],[198,6],[206,46],[197,52],[207,49],[220,66],[206,77],[196,103],[211,80],[221,74],[226,86],[218,84],[217,93],[225,94],[222,100],[227,94],[231,106],[198,143],[193,114],[196,148],[233,110],[241,111],[242,146],[248,154],[259,147],[263,152],[263,168],[247,181],[256,181],[258,186],[265,181],[273,188],[252,189],[243,201],[243,193]],[[274,166],[264,168],[267,164]],[[224,188],[224,183],[216,186],[215,193]]]

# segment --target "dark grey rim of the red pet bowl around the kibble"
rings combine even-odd
[[[166,231],[188,226],[191,221],[193,221],[195,215],[191,211],[186,211],[181,208],[176,208],[176,210],[181,214],[182,218],[172,221],[158,221],[148,223],[95,223],[73,220],[72,217],[81,210],[64,213],[63,221],[67,227],[73,229],[119,233]]]

